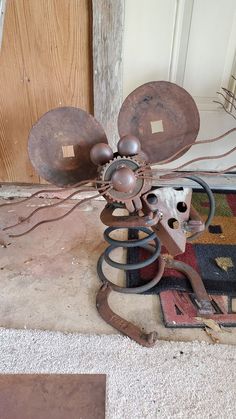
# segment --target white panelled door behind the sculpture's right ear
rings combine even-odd
[[[176,82],[198,105],[198,138],[219,135],[236,126],[213,103],[217,90],[230,86],[230,75],[236,73],[235,48],[236,0],[125,0],[124,98],[148,81]],[[195,146],[174,166],[198,156],[224,153],[235,145],[236,134],[232,134],[221,143]],[[188,169],[220,170],[233,164],[236,153]]]

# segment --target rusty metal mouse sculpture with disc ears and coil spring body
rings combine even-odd
[[[224,93],[235,109],[234,96],[229,91]],[[232,113],[231,115],[234,117]],[[174,268],[184,272],[189,279],[198,304],[198,315],[207,316],[214,312],[211,297],[198,273],[173,259],[185,251],[187,241],[196,238],[209,226],[214,215],[214,196],[207,183],[198,177],[208,172],[190,174],[182,171],[189,163],[210,157],[196,158],[171,170],[164,169],[163,164],[182,156],[195,144],[217,142],[236,131],[236,128],[219,137],[195,142],[199,131],[199,113],[193,98],[182,87],[161,81],[146,83],[125,99],[118,118],[118,129],[118,151],[113,153],[103,128],[91,115],[71,107],[54,109],[43,115],[33,126],[29,135],[29,156],[44,179],[63,188],[77,188],[64,201],[76,195],[81,186],[88,184],[92,186],[83,190],[94,189],[98,192],[95,196],[102,195],[107,201],[101,220],[108,226],[104,238],[109,246],[98,261],[98,276],[102,287],[97,295],[97,309],[102,318],[113,327],[141,345],[152,346],[157,334],[145,334],[116,315],[108,305],[108,296],[112,290],[142,293],[160,281],[165,268]],[[222,158],[235,149],[236,147],[214,156],[214,159]],[[153,165],[159,167],[153,168]],[[218,175],[219,172],[215,174]],[[197,182],[207,193],[210,211],[205,223],[191,206],[191,188],[176,190],[166,183],[166,180],[178,178]],[[152,188],[153,180],[158,180],[158,188]],[[64,215],[41,221],[24,233],[11,234],[10,237],[20,237],[43,223],[61,220],[83,202],[93,198],[94,196],[83,199]],[[116,208],[126,209],[128,215],[114,215]],[[41,210],[43,208],[34,210],[20,223],[3,230],[15,228]],[[136,231],[138,238],[118,241],[111,237],[114,230],[130,228]],[[139,238],[139,232],[146,236]],[[168,250],[171,258],[161,254],[161,244]],[[135,264],[122,264],[115,262],[110,256],[117,247],[129,249],[137,246],[149,251],[148,259]],[[148,284],[136,288],[120,287],[112,283],[103,272],[104,262],[117,269],[130,271],[141,269],[156,260],[159,263],[158,273]]]

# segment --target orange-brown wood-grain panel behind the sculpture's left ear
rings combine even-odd
[[[38,183],[27,153],[49,109],[92,110],[90,0],[8,0],[0,57],[0,181]]]

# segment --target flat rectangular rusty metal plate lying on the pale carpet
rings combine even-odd
[[[1,419],[105,419],[106,376],[0,375]]]

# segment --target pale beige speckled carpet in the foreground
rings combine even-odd
[[[4,329],[0,345],[0,373],[107,374],[107,419],[235,418],[233,346]]]

